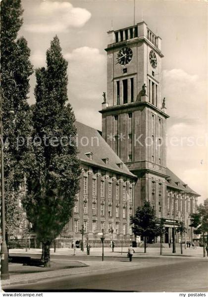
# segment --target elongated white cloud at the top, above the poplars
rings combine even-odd
[[[43,1],[34,7],[33,15],[38,17],[24,29],[37,33],[67,32],[70,27],[80,28],[91,18],[91,13],[69,2]]]

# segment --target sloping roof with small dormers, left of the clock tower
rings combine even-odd
[[[78,134],[78,156],[81,161],[136,178],[136,175],[129,171],[114,150],[104,141],[100,131],[77,121],[75,126]],[[90,158],[90,153],[92,158]],[[106,158],[108,158],[107,164],[105,163]],[[122,168],[118,165],[121,163]]]

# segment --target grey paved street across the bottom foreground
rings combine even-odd
[[[57,257],[57,256],[55,256]],[[60,256],[61,257],[61,256]],[[77,257],[78,258],[78,257]],[[92,259],[92,258],[91,258]],[[97,258],[98,259],[98,258]],[[119,258],[111,258],[119,260]],[[120,258],[120,261],[124,260]],[[161,262],[161,259],[154,259]],[[153,259],[134,259],[153,261]],[[34,284],[10,286],[14,291],[133,291],[133,292],[207,292],[207,259],[163,259],[164,265],[116,271],[88,276],[72,276],[41,281]],[[131,263],[129,263],[131,264]]]

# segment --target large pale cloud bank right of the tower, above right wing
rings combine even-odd
[[[206,166],[206,82],[182,69],[163,71],[167,113],[167,166],[194,191],[208,197]],[[177,139],[177,145],[170,140]],[[203,160],[203,164],[201,164]]]

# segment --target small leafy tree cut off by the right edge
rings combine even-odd
[[[197,207],[197,213],[191,214],[190,227],[195,228],[194,230],[195,234],[202,234],[204,257],[206,255],[205,248],[207,249],[207,256],[208,256],[208,198],[205,199],[204,205],[200,204]],[[206,233],[207,233],[207,244],[205,244]]]

